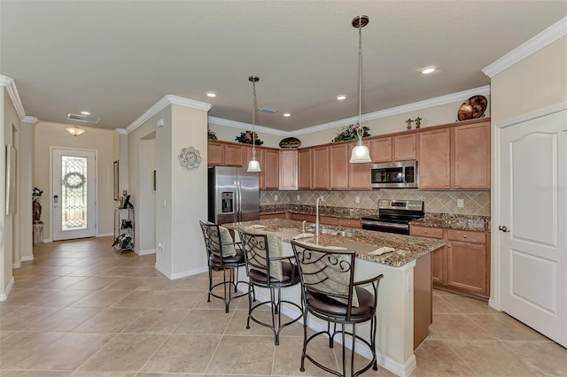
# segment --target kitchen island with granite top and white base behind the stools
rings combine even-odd
[[[284,254],[292,254],[291,239],[303,236],[301,221],[264,219],[224,224],[224,227],[233,230],[251,226],[276,232],[282,240]],[[431,251],[439,249],[445,242],[361,229],[325,227],[322,230],[325,233],[320,235],[318,242],[315,242],[315,237],[302,238],[300,241],[355,250],[356,280],[384,273],[378,289],[377,360],[379,365],[392,373],[407,376],[416,367],[414,350],[427,336],[427,327],[431,324]],[[344,235],[332,235],[336,230],[347,232],[343,233]],[[380,256],[369,254],[384,246],[393,248],[394,251]],[[244,272],[239,275],[241,280],[246,279],[242,278],[245,276]],[[267,292],[256,293],[268,295]],[[283,290],[286,300],[297,303],[300,294],[299,287]],[[285,314],[291,317],[295,313]],[[307,326],[319,331],[325,325],[310,316]],[[358,331],[368,334],[369,325],[361,326],[360,330],[357,327]],[[356,349],[365,350],[364,347],[358,346]],[[371,358],[369,354],[361,355]]]

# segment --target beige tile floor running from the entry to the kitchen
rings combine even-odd
[[[247,300],[206,302],[206,274],[169,281],[110,237],[35,246],[0,303],[2,376],[323,376],[299,372],[300,325],[245,328]],[[217,279],[220,275],[217,274]],[[418,376],[566,376],[567,350],[485,302],[435,291]],[[336,365],[325,342],[320,355]],[[364,375],[393,376],[384,368]]]

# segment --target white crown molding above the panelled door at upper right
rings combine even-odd
[[[567,17],[555,22],[555,24],[542,31],[539,35],[511,50],[493,64],[486,66],[482,72],[492,78],[495,74],[501,73],[511,65],[515,65],[518,61],[529,57],[564,35],[567,35]]]

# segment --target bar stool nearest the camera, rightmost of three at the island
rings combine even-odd
[[[307,242],[291,241],[299,274],[303,305],[303,351],[301,354],[301,367],[305,372],[305,359],[321,369],[338,375],[346,375],[346,339],[350,338],[353,344],[350,359],[350,375],[357,376],[366,372],[370,366],[377,371],[376,358],[376,331],[377,331],[377,293],[378,283],[383,275],[380,274],[364,281],[354,281],[355,252],[344,248],[322,247]],[[363,286],[371,289],[363,288]],[[312,314],[318,319],[327,322],[327,330],[320,331],[307,337],[307,315]],[[356,325],[370,321],[369,339],[356,334]],[[331,333],[330,325],[333,324]],[[338,325],[340,329],[337,330]],[[347,325],[352,327],[348,331]],[[320,335],[329,337],[329,347],[333,348],[335,335],[341,335],[342,373],[330,369],[315,361],[307,353],[309,342]],[[354,372],[354,353],[357,341],[369,348],[372,360],[360,370]]]

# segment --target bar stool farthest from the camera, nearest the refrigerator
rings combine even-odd
[[[203,231],[205,239],[206,261],[209,270],[209,292],[206,299],[211,302],[211,296],[224,301],[225,312],[229,312],[229,304],[232,300],[248,295],[250,289],[237,295],[238,267],[245,265],[245,256],[240,249],[240,242],[234,242],[229,229],[217,224],[198,222]],[[213,270],[222,271],[222,281],[213,285]],[[229,279],[227,279],[227,272]],[[240,281],[244,282],[244,281]],[[223,295],[219,296],[213,292],[216,287],[222,286]],[[234,292],[233,292],[234,290]]]

